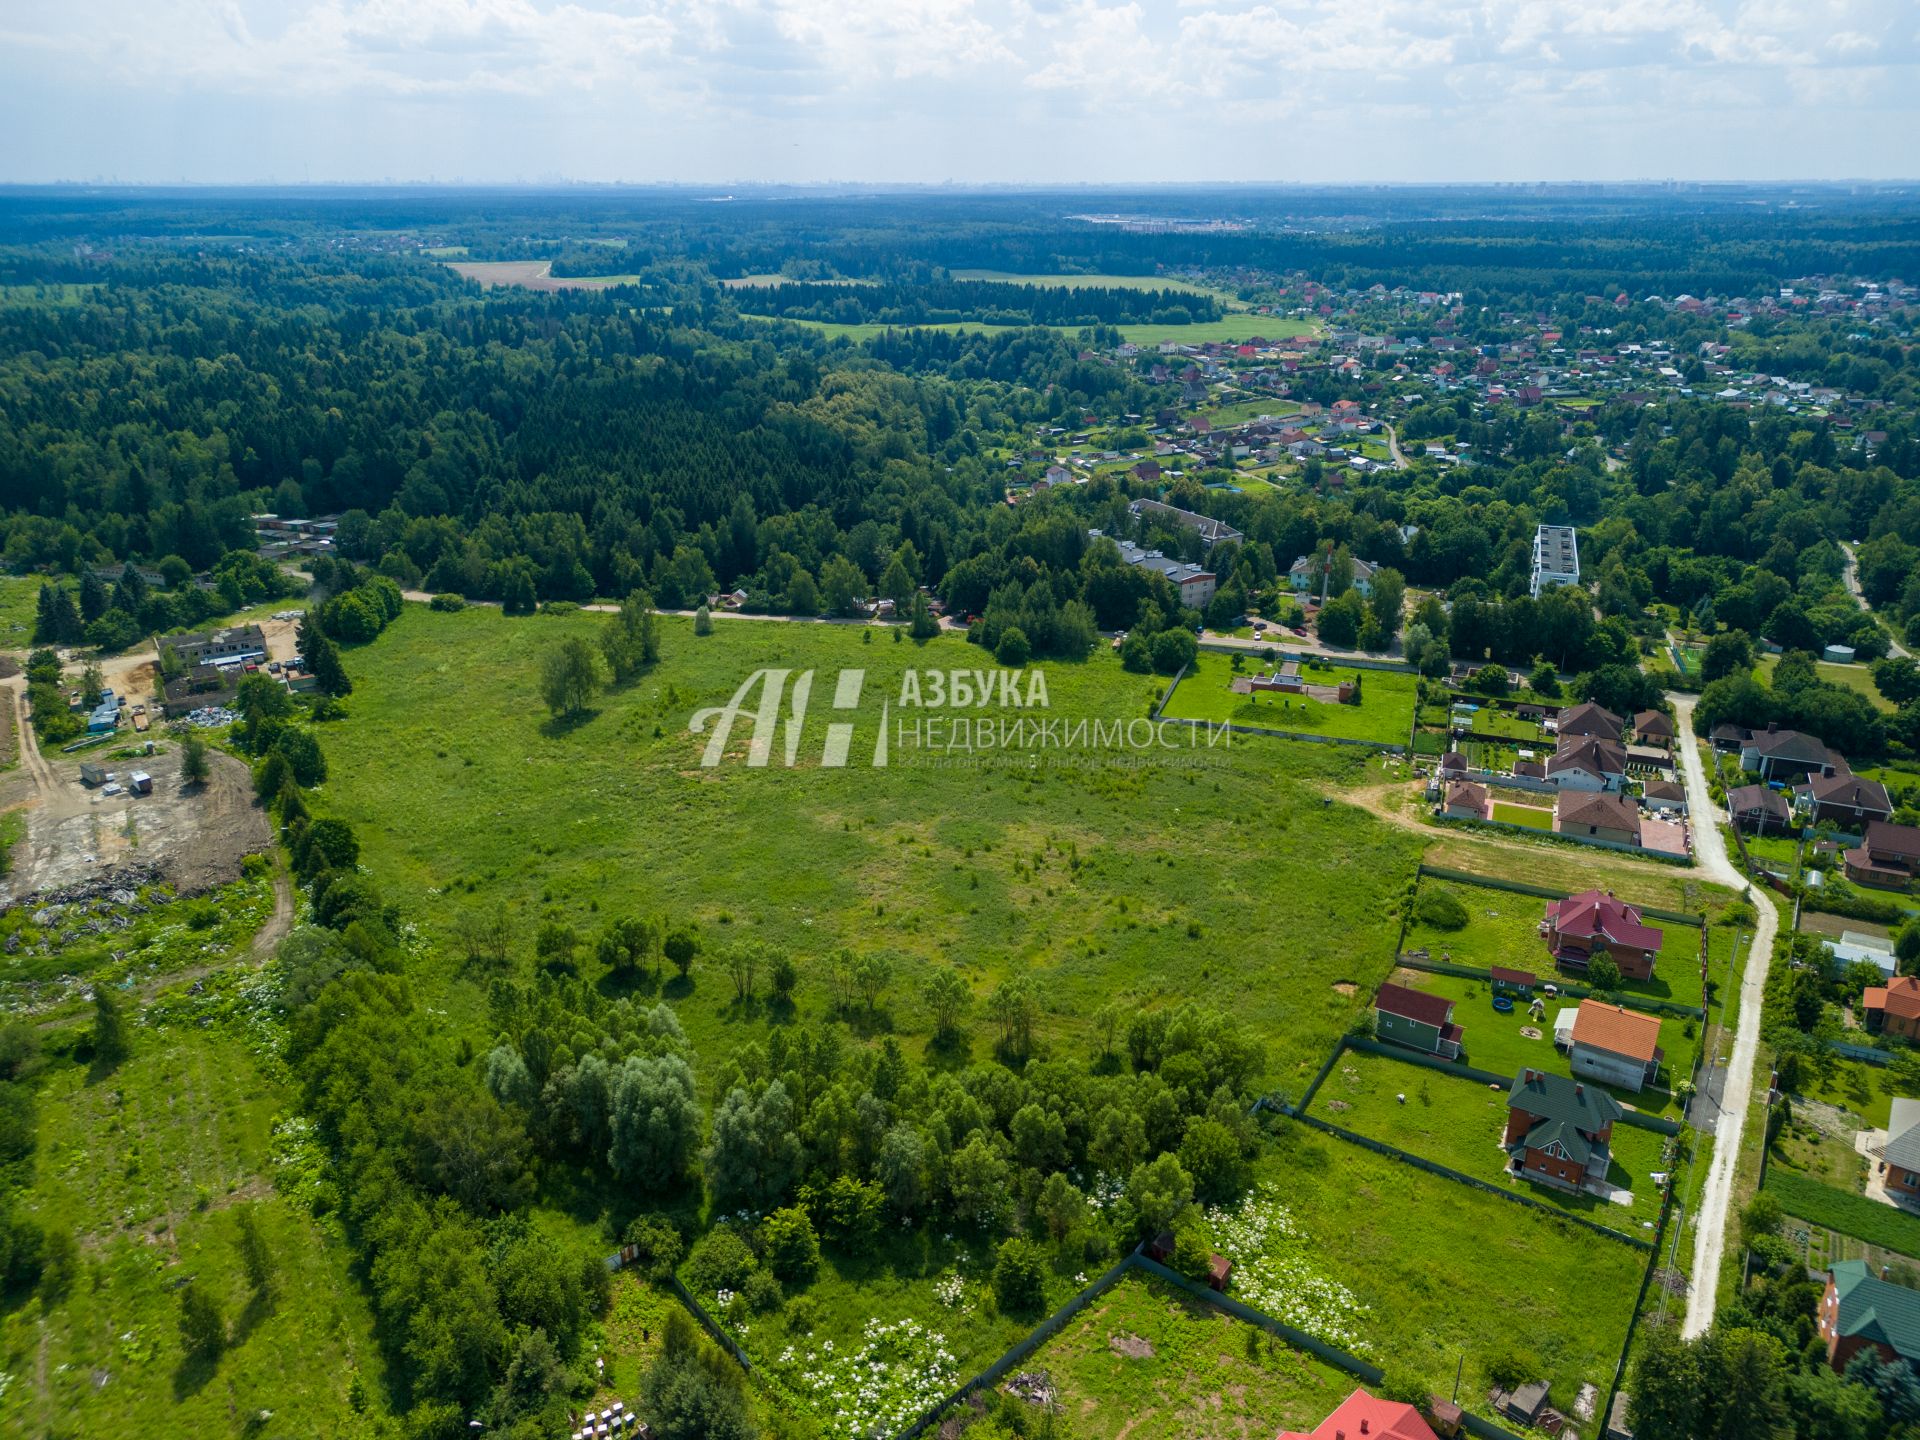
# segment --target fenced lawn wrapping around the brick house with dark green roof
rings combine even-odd
[[[1405,1104],[1398,1098],[1402,1094],[1407,1096]],[[1661,1213],[1659,1188],[1647,1177],[1663,1167],[1665,1139],[1634,1125],[1613,1127],[1613,1167],[1607,1179],[1634,1192],[1630,1206],[1617,1206],[1507,1175],[1507,1152],[1500,1144],[1507,1123],[1507,1096],[1478,1081],[1348,1050],[1313,1096],[1313,1114],[1331,1125],[1628,1235],[1651,1227]]]

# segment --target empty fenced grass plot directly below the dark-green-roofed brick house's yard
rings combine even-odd
[[[1367,1306],[1361,1344],[1392,1375],[1452,1394],[1465,1359],[1469,1404],[1501,1359],[1555,1394],[1613,1379],[1645,1265],[1632,1246],[1306,1125],[1283,1125],[1260,1171]]]

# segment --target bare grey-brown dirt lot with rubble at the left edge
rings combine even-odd
[[[77,760],[48,758],[54,789],[36,795],[27,810],[27,837],[13,849],[12,874],[0,879],[0,906],[134,862],[157,864],[175,893],[200,895],[238,879],[240,862],[273,845],[273,828],[240,760],[209,753],[207,783],[182,793],[180,747],[161,747],[132,760],[96,760],[115,776],[144,770],[154,778],[152,795],[88,789]]]

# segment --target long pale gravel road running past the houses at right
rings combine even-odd
[[[1686,1298],[1686,1325],[1682,1334],[1705,1334],[1713,1325],[1713,1302],[1718,1288],[1720,1256],[1726,1252],[1726,1227],[1734,1208],[1734,1167],[1740,1164],[1740,1137],[1747,1125],[1747,1110],[1753,1104],[1753,1066],[1761,1052],[1761,996],[1766,989],[1766,966],[1774,954],[1774,931],[1780,916],[1764,891],[1749,889],[1726,854],[1726,841],[1720,828],[1713,824],[1713,799],[1707,795],[1707,772],[1699,762],[1699,745],[1693,741],[1693,697],[1668,695],[1674,705],[1674,720],[1680,735],[1680,770],[1686,776],[1688,814],[1695,820],[1693,851],[1707,877],[1747,891],[1759,922],[1753,929],[1753,947],[1747,950],[1747,973],[1740,983],[1740,1020],[1734,1029],[1734,1052],[1726,1064],[1726,1079],[1720,1085],[1720,1125],[1713,1142],[1713,1164],[1707,1169],[1707,1187],[1701,1190],[1699,1219],[1693,1231],[1693,1288]]]

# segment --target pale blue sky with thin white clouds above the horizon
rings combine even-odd
[[[0,179],[1920,173],[1914,0],[6,0]]]

